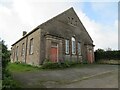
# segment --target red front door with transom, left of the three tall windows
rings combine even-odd
[[[50,60],[52,62],[57,62],[58,60],[58,44],[57,43],[51,43],[51,49],[50,49]]]

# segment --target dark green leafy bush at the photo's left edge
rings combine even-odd
[[[2,52],[0,52],[0,55],[2,57],[2,89],[16,88],[18,85],[12,79],[11,74],[7,69],[8,63],[10,61],[10,51],[7,49],[4,41],[0,41],[0,49],[1,48]]]

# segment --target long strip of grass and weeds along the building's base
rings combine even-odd
[[[59,67],[58,64],[53,64],[53,63],[49,63],[47,65],[44,65],[42,67],[37,67],[37,66],[31,66],[31,65],[28,65],[28,64],[22,64],[22,63],[9,63],[8,66],[7,66],[7,69],[10,71],[10,72],[13,72],[13,73],[20,73],[20,72],[35,72],[35,71],[42,71],[42,70],[56,70],[56,69],[66,69],[66,68],[82,68],[82,67],[86,67],[86,66],[94,66],[96,64],[73,64],[73,65],[70,65],[68,67],[67,64],[63,64],[61,65],[61,67]],[[45,68],[43,68],[45,67]]]

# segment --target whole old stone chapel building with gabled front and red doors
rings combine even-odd
[[[12,45],[11,61],[40,65],[88,60],[94,62],[94,45],[73,8],[37,26]]]

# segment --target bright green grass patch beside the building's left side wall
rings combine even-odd
[[[26,64],[17,64],[17,63],[9,63],[7,66],[7,69],[10,72],[30,72],[30,71],[39,71],[40,68],[31,66],[31,65],[26,65]]]

